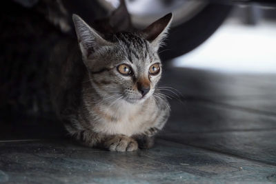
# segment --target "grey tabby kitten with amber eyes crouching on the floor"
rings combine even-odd
[[[144,30],[108,36],[76,14],[72,19],[81,52],[72,48],[76,43],[61,43],[68,46],[55,49],[63,58],[52,61],[50,70],[52,102],[66,130],[85,145],[110,151],[152,147],[170,114],[157,89],[157,50],[172,14]]]

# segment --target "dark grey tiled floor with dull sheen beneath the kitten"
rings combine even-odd
[[[172,115],[151,150],[82,147],[43,121],[20,127],[28,140],[7,141],[12,134],[1,130],[0,182],[276,182],[275,79],[167,68],[161,86],[181,95],[170,100]]]

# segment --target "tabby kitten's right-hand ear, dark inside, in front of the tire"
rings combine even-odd
[[[168,33],[168,28],[172,22],[172,13],[166,14],[161,19],[158,19],[154,23],[150,24],[147,28],[142,30],[144,38],[150,43],[153,47],[158,50],[159,46],[162,43],[162,40],[166,37]]]

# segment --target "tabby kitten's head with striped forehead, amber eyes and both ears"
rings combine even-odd
[[[137,32],[118,32],[104,39],[73,15],[83,62],[99,95],[140,103],[155,92],[162,67],[157,50],[166,37],[172,14]]]

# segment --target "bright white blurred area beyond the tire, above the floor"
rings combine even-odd
[[[217,72],[275,73],[275,16],[273,7],[235,6],[206,42],[172,63]]]

